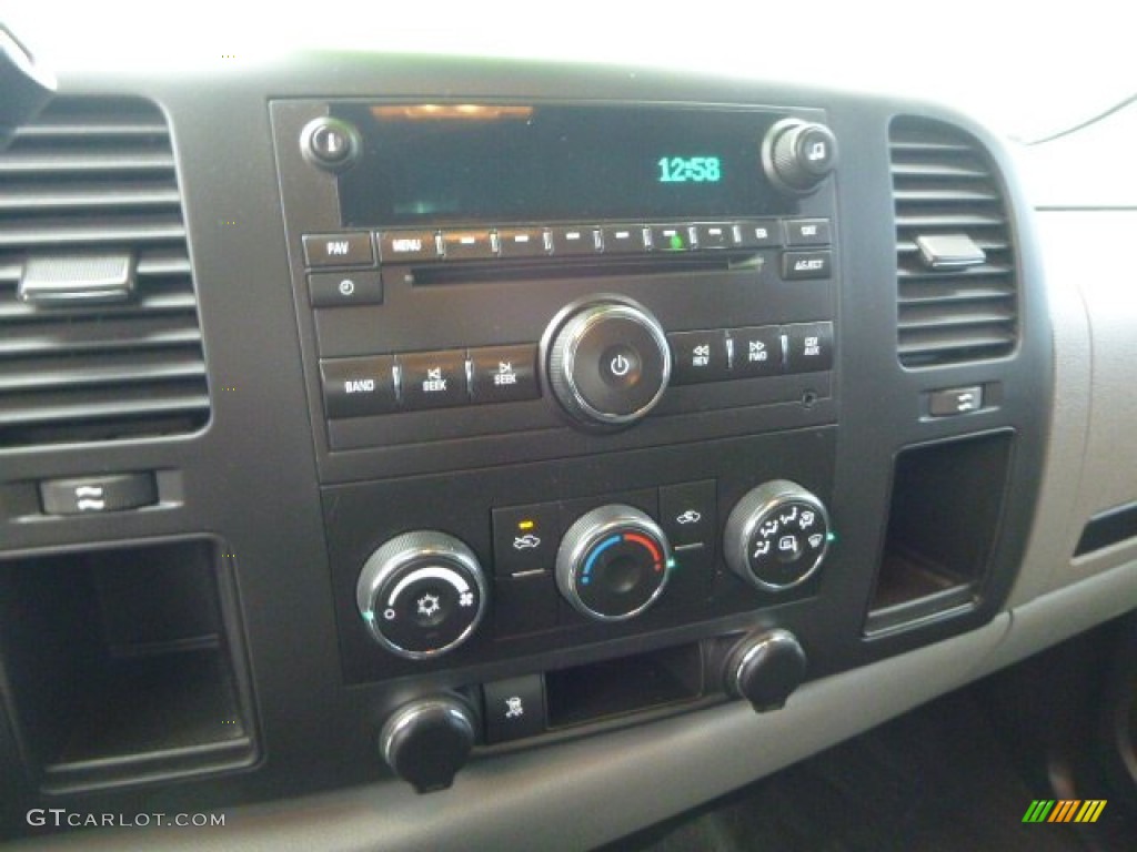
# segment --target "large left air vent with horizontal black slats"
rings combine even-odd
[[[208,417],[165,117],[142,100],[56,99],[0,152],[0,448]]]

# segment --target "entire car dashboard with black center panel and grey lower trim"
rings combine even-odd
[[[1137,603],[1137,194],[1061,179],[1132,107],[53,89],[0,128],[0,836],[594,847]]]

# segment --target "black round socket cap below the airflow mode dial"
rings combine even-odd
[[[727,659],[727,692],[746,699],[756,712],[777,710],[805,677],[805,651],[789,630],[747,636]]]

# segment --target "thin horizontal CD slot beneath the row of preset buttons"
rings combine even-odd
[[[612,275],[665,275],[669,273],[721,273],[737,269],[762,269],[763,258],[754,251],[721,252],[706,257],[607,258],[576,260],[561,258],[533,262],[463,262],[430,264],[407,268],[415,286],[443,284],[483,284],[532,278],[582,278]]]

